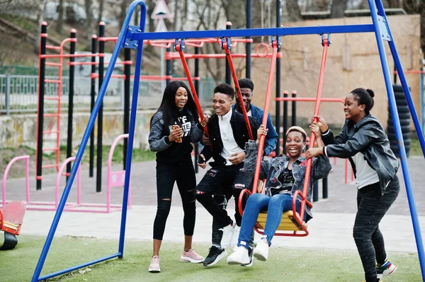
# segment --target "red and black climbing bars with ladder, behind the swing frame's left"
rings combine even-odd
[[[116,43],[118,37],[105,37],[105,23],[99,23],[99,36],[92,35],[91,37],[91,52],[79,52],[76,54],[76,45],[77,45],[77,32],[76,30],[71,30],[71,34],[69,38],[64,39],[59,47],[45,45],[45,38],[47,38],[47,23],[42,23],[42,33],[40,34],[40,71],[39,76],[40,79],[45,76],[45,66],[55,66],[58,67],[58,80],[53,81],[52,79],[45,80],[45,83],[58,83],[58,96],[51,97],[45,95],[45,83],[39,84],[39,104],[38,104],[38,136],[37,136],[37,189],[41,189],[42,184],[42,168],[56,168],[59,169],[59,142],[60,142],[60,127],[57,124],[57,130],[51,131],[42,130],[44,117],[56,117],[58,122],[59,115],[52,115],[51,113],[44,113],[44,104],[40,101],[42,100],[57,100],[58,107],[60,107],[60,101],[62,97],[62,63],[63,59],[69,59],[69,95],[68,95],[68,128],[67,128],[67,158],[72,156],[72,121],[73,121],[73,112],[74,112],[74,81],[75,81],[75,66],[85,67],[91,66],[91,72],[89,76],[91,78],[91,110],[93,110],[95,97],[96,97],[96,79],[98,79],[98,88],[101,87],[103,76],[99,74],[104,73],[104,66],[109,64],[110,56],[105,53],[105,44],[106,42]],[[233,45],[236,46],[237,43],[251,43],[252,39],[235,39],[233,40]],[[64,48],[67,46],[69,42],[69,54],[64,54]],[[200,39],[189,39],[186,40],[186,45],[195,47],[195,51],[199,51],[198,48],[201,48],[205,45],[205,43],[217,43],[220,44],[221,40],[217,38],[200,38]],[[174,40],[144,40],[144,44],[151,45],[153,47],[166,48],[170,49],[171,45],[174,43]],[[98,46],[98,47],[97,47]],[[260,47],[262,49],[260,50]],[[52,49],[57,51],[59,54],[45,54],[47,49]],[[199,53],[199,52],[198,52]],[[234,57],[246,57],[246,54],[234,54]],[[200,58],[215,58],[215,54],[188,54],[186,58],[188,59],[196,59],[196,64],[198,64],[197,60]],[[225,54],[220,54],[220,57],[225,58]],[[259,45],[256,48],[256,53],[251,54],[251,57],[270,57],[268,54],[268,48],[266,45]],[[278,57],[281,57],[281,54],[278,53]],[[140,76],[140,81],[186,81],[188,78],[186,77],[173,77],[171,76],[171,61],[174,59],[178,59],[179,55],[176,52],[166,52],[166,66],[167,66],[167,75],[166,76]],[[46,62],[46,59],[59,59],[60,63]],[[77,61],[76,61],[77,59]],[[86,59],[91,59],[91,61],[86,61]],[[97,61],[96,61],[97,59]],[[129,127],[129,113],[130,113],[130,81],[134,80],[134,75],[130,75],[130,66],[132,65],[130,49],[125,49],[124,53],[124,61],[117,61],[115,65],[123,65],[124,66],[124,74],[112,74],[111,78],[123,79],[124,81],[124,134],[128,134]],[[96,73],[96,66],[97,73]],[[115,67],[115,66],[114,66]],[[85,71],[89,71],[86,69]],[[115,71],[114,71],[115,72]],[[81,72],[78,72],[81,74]],[[193,81],[199,81],[199,71],[195,77],[192,78]],[[59,83],[59,80],[61,82]],[[60,114],[60,113],[59,113]],[[42,131],[42,132],[41,132]],[[43,135],[48,134],[56,134],[56,146],[55,148],[42,148],[43,147]],[[99,109],[98,113],[98,134],[97,134],[97,152],[96,152],[96,192],[101,192],[102,189],[102,143],[103,143],[103,103]],[[123,167],[125,168],[125,162],[127,157],[127,139],[124,141],[124,150],[123,150]],[[57,161],[55,165],[42,165],[42,152],[43,151],[55,151],[57,154]],[[94,176],[94,131],[91,132],[90,136],[90,150],[89,150],[89,176]],[[71,170],[71,163],[67,165],[67,176]],[[196,170],[198,167],[196,166]]]

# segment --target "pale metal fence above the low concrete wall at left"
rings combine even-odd
[[[46,79],[57,79],[46,77]],[[132,83],[130,83],[130,99],[132,97]],[[214,81],[203,79],[199,83],[199,100],[203,107],[210,107]],[[45,96],[57,96],[58,85],[45,83]],[[137,108],[139,110],[156,109],[162,100],[165,83],[163,81],[140,81]],[[90,110],[91,79],[86,77],[75,78],[74,84],[74,111],[88,112]],[[96,90],[98,81],[96,81]],[[68,110],[69,77],[62,78],[61,110]],[[130,101],[131,102],[131,101]],[[18,112],[37,112],[38,105],[38,76],[0,75],[0,114]],[[106,95],[103,98],[104,110],[124,109],[124,81],[120,78],[111,78]],[[45,100],[45,112],[56,111],[57,101]]]

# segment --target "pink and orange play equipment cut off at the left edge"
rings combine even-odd
[[[16,235],[21,233],[25,216],[25,204],[22,201],[11,201],[0,209],[0,230],[4,231],[4,242],[0,250],[13,249],[18,244]]]

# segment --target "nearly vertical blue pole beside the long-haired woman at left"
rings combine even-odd
[[[133,4],[134,3],[135,2],[133,2]],[[139,32],[144,33],[145,22],[146,22],[146,6],[145,6],[145,3],[140,4],[140,6],[141,7],[140,7],[140,31]],[[129,25],[130,19],[131,17],[128,18],[128,22],[126,21],[124,23],[125,26]],[[135,81],[133,84],[133,95],[132,95],[132,101],[131,101],[130,128],[128,129],[129,135],[128,135],[128,148],[127,148],[127,162],[125,163],[125,181],[124,181],[124,193],[123,193],[123,209],[121,212],[120,242],[118,245],[118,252],[121,253],[121,257],[123,257],[123,254],[124,254],[125,223],[127,221],[128,186],[130,184],[132,148],[134,143],[133,141],[135,138],[137,97],[139,96],[140,69],[142,68],[143,40],[139,40],[137,45],[138,46],[137,46],[137,52],[136,52]]]

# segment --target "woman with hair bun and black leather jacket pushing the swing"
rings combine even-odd
[[[363,88],[348,94],[344,104],[346,122],[338,136],[332,134],[323,117],[313,116],[327,146],[310,148],[306,153],[306,158],[327,155],[350,160],[358,189],[353,237],[366,282],[380,281],[397,269],[387,260],[379,223],[399,193],[399,163],[382,124],[370,114],[374,95],[373,90]]]

